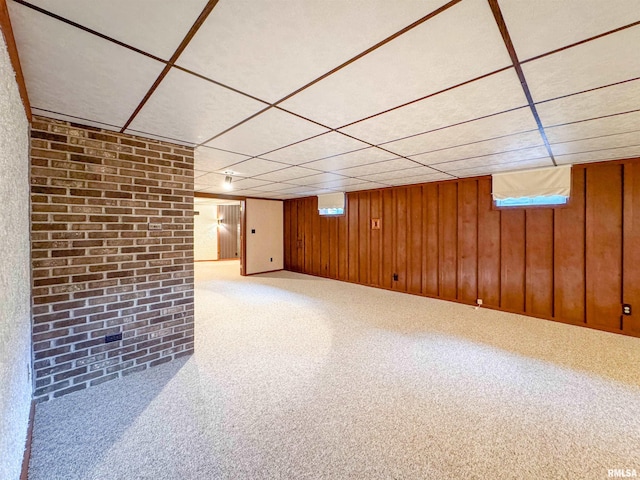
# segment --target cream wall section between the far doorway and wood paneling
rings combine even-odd
[[[246,200],[247,275],[284,268],[283,210],[281,200]]]

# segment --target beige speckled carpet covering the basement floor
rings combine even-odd
[[[32,480],[640,475],[640,339],[196,264],[196,354],[38,405]]]

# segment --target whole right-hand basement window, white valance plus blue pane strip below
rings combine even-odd
[[[491,193],[497,207],[566,205],[571,194],[571,166],[496,173]]]

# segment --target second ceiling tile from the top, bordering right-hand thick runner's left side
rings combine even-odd
[[[510,68],[341,130],[381,144],[524,105],[527,99]]]

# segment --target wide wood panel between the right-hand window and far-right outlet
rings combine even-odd
[[[622,296],[622,166],[587,169],[587,324],[620,328]]]

